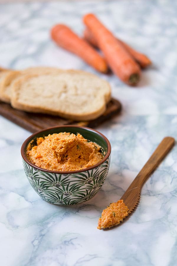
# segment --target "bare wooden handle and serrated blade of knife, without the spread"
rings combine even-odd
[[[167,155],[167,153],[171,150],[174,143],[175,140],[172,137],[165,137],[160,142],[147,163],[143,166],[141,171],[138,173],[126,192],[121,197],[121,200],[123,200],[124,204],[129,208],[128,214],[132,212],[139,201],[142,185],[153,173],[155,168],[157,168],[165,155]]]

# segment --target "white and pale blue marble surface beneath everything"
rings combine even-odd
[[[49,29],[58,22],[81,34],[87,12],[152,59],[137,87],[96,73],[50,40]],[[108,80],[123,105],[120,116],[97,128],[112,144],[108,177],[92,200],[72,207],[50,205],[35,193],[20,155],[31,133],[0,116],[1,265],[177,265],[176,146],[143,186],[135,212],[121,226],[96,228],[101,211],[119,200],[162,138],[176,138],[176,1],[1,4],[0,36],[1,66],[85,69]]]

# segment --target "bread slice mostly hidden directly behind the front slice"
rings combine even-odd
[[[54,71],[59,71],[59,69],[54,67],[30,67],[22,71],[6,71],[3,79],[0,80],[0,99],[6,103],[10,103],[13,82],[16,81],[16,78],[27,74],[47,74]]]

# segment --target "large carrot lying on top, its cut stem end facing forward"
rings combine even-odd
[[[83,22],[94,35],[112,71],[125,83],[135,85],[140,79],[140,67],[124,46],[95,17],[86,14]]]

